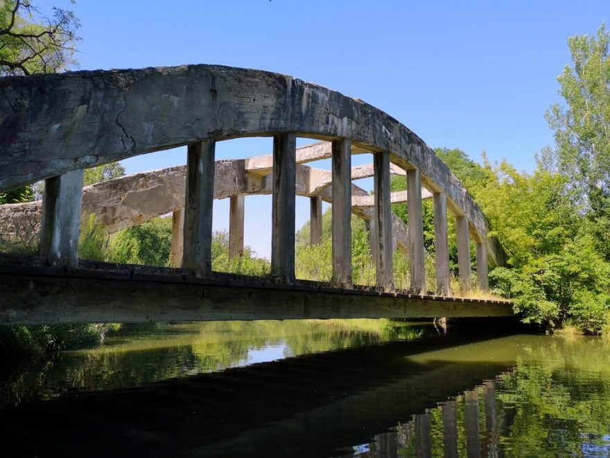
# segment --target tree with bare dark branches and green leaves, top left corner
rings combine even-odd
[[[69,69],[79,26],[69,10],[53,8],[53,17],[45,17],[28,0],[1,1],[0,76]]]

